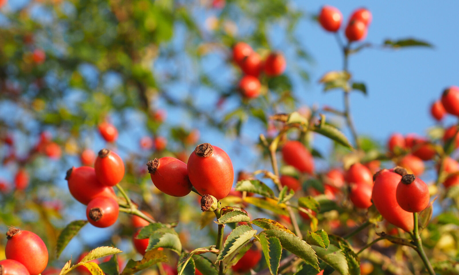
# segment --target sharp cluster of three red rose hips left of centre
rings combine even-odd
[[[87,205],[86,217],[90,224],[108,227],[117,221],[119,206],[113,186],[123,176],[123,160],[105,148],[99,151],[94,168],[81,166],[67,171],[68,189],[73,198]]]

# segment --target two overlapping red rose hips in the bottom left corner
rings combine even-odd
[[[35,233],[11,227],[6,232],[5,260],[0,261],[2,275],[39,275],[48,264],[48,249]]]

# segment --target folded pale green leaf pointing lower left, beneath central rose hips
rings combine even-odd
[[[224,243],[223,249],[217,256],[217,262],[229,257],[232,253],[235,253],[238,248],[246,244],[255,234],[256,230],[253,230],[248,225],[240,225],[236,227],[229,234],[228,238]]]

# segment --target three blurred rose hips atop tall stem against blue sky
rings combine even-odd
[[[368,26],[371,23],[371,12],[360,8],[353,12],[347,23],[344,34],[349,42],[359,41],[367,36]],[[325,30],[336,33],[340,27],[343,16],[341,11],[333,6],[323,6],[319,13],[319,23]]]

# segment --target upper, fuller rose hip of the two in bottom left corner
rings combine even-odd
[[[5,246],[6,259],[23,264],[30,275],[39,275],[48,264],[48,249],[43,240],[35,233],[11,227],[6,232],[8,241]]]

